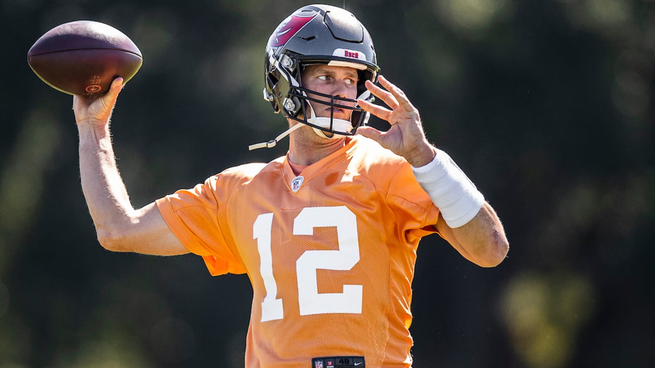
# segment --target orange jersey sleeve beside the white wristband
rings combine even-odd
[[[437,232],[439,209],[416,181],[409,164],[402,164],[394,175],[387,192],[387,202],[408,242],[413,243]]]

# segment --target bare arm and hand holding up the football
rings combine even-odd
[[[159,213],[155,202],[135,210],[116,165],[109,134],[109,119],[121,92],[122,78],[98,98],[73,96],[79,131],[82,190],[98,241],[113,251],[155,255],[184,254],[179,242]]]

